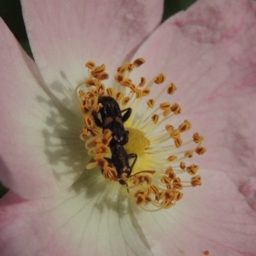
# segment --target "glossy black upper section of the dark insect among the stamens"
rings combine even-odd
[[[100,109],[102,120],[99,119],[98,113],[93,112],[92,116],[97,126],[102,130],[109,129],[112,131],[113,139],[109,143],[109,147],[113,147],[116,144],[125,145],[128,143],[129,131],[125,131],[124,123],[131,116],[131,108],[125,108],[120,110],[118,102],[116,102],[112,96],[99,96],[98,103],[102,103]],[[122,113],[125,112],[124,115]]]

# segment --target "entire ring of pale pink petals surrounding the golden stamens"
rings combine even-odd
[[[0,178],[10,189],[0,201],[3,255],[256,253],[256,5],[232,3],[198,1],[154,31],[154,1],[23,1],[37,66],[1,21]],[[73,94],[85,61],[113,74],[141,56],[140,73],[175,81],[175,101],[207,137],[202,186],[158,212],[141,211],[100,172],[83,172],[90,157]]]

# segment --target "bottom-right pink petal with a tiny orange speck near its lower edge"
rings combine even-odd
[[[154,255],[255,255],[255,212],[224,173],[203,172],[201,187],[183,189],[175,207],[137,211]]]

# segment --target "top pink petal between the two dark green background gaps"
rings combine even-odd
[[[21,1],[44,82],[62,101],[84,80],[84,63],[113,73],[160,23],[162,1]],[[58,88],[64,85],[66,93]],[[111,84],[112,85],[112,84]]]

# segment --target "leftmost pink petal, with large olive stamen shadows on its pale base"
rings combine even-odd
[[[52,195],[84,171],[80,122],[58,111],[32,61],[0,20],[0,179],[20,196]]]

